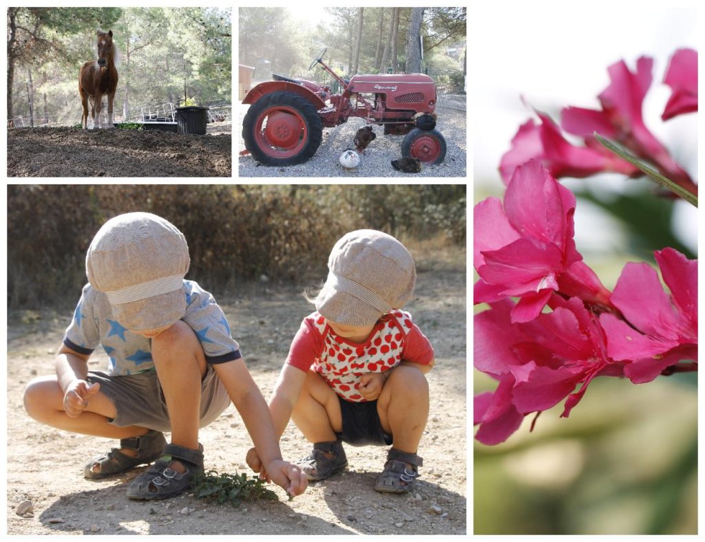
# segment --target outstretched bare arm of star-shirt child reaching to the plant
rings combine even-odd
[[[292,496],[303,493],[308,484],[306,476],[301,469],[282,460],[278,434],[272,423],[269,408],[243,360],[218,363],[213,367],[235,408],[243,417],[247,432],[255,443],[257,455],[262,458],[268,477]]]

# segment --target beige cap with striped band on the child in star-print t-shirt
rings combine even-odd
[[[189,265],[183,234],[151,213],[111,218],[95,234],[86,254],[88,282],[108,296],[116,320],[134,331],[157,329],[183,318],[183,277]]]

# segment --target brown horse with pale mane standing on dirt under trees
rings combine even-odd
[[[78,92],[81,95],[83,127],[88,127],[88,101],[91,102],[91,128],[100,128],[102,98],[108,96],[108,124],[113,127],[113,99],[118,86],[118,70],[115,67],[118,51],[113,43],[113,31],[98,31],[98,60],[82,65],[78,73]],[[97,118],[97,120],[96,120]]]

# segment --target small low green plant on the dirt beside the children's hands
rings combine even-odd
[[[219,474],[209,470],[196,477],[194,491],[197,498],[211,498],[218,504],[230,501],[235,508],[240,506],[243,500],[279,500],[274,491],[266,489],[264,480],[260,480],[256,474],[247,477],[244,472]]]

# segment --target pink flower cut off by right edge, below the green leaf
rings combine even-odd
[[[654,256],[670,296],[653,267],[627,263],[610,298],[624,320],[611,314],[600,317],[608,355],[630,360],[625,375],[635,384],[651,382],[681,360],[697,363],[697,260],[688,260],[673,248]]]

